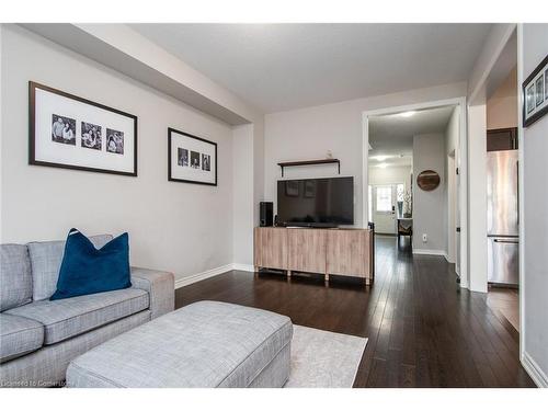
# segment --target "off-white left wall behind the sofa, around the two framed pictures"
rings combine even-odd
[[[171,98],[19,26],[2,33],[1,242],[52,240],[70,227],[128,231],[132,263],[178,278],[232,262],[232,130]],[[27,81],[136,114],[138,178],[27,164]],[[167,128],[218,144],[218,186],[168,182]]]

